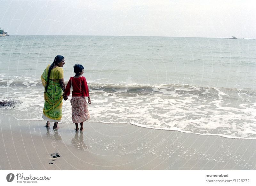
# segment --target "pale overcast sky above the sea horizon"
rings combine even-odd
[[[256,38],[255,0],[0,0],[10,35]]]

